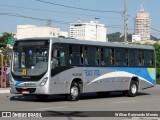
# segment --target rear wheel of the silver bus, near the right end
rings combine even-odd
[[[131,81],[127,95],[130,97],[135,97],[137,92],[138,92],[138,83],[136,81]]]

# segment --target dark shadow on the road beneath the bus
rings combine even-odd
[[[137,96],[150,95],[148,93],[139,92]],[[103,98],[116,98],[116,97],[127,97],[122,92],[111,92],[109,95],[97,95],[96,93],[82,94],[80,100],[89,99],[103,99]],[[64,102],[67,101],[65,96],[62,95],[51,95],[45,101],[39,101],[34,95],[14,95],[10,97],[11,101],[26,101],[26,102]]]

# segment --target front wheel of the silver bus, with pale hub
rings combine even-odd
[[[73,82],[71,84],[70,94],[67,96],[67,99],[69,101],[77,101],[79,99],[79,96],[80,96],[79,84],[76,82]]]

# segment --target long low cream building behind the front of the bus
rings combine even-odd
[[[17,39],[33,38],[33,37],[68,37],[68,32],[60,31],[60,28],[49,26],[37,27],[35,25],[18,25]]]

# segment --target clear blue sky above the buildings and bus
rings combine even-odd
[[[151,17],[151,35],[160,38],[160,0],[127,0],[128,33],[141,5]],[[70,23],[98,18],[107,33],[124,32],[124,0],[0,0],[0,34],[16,32],[17,25],[52,26],[69,32]]]

